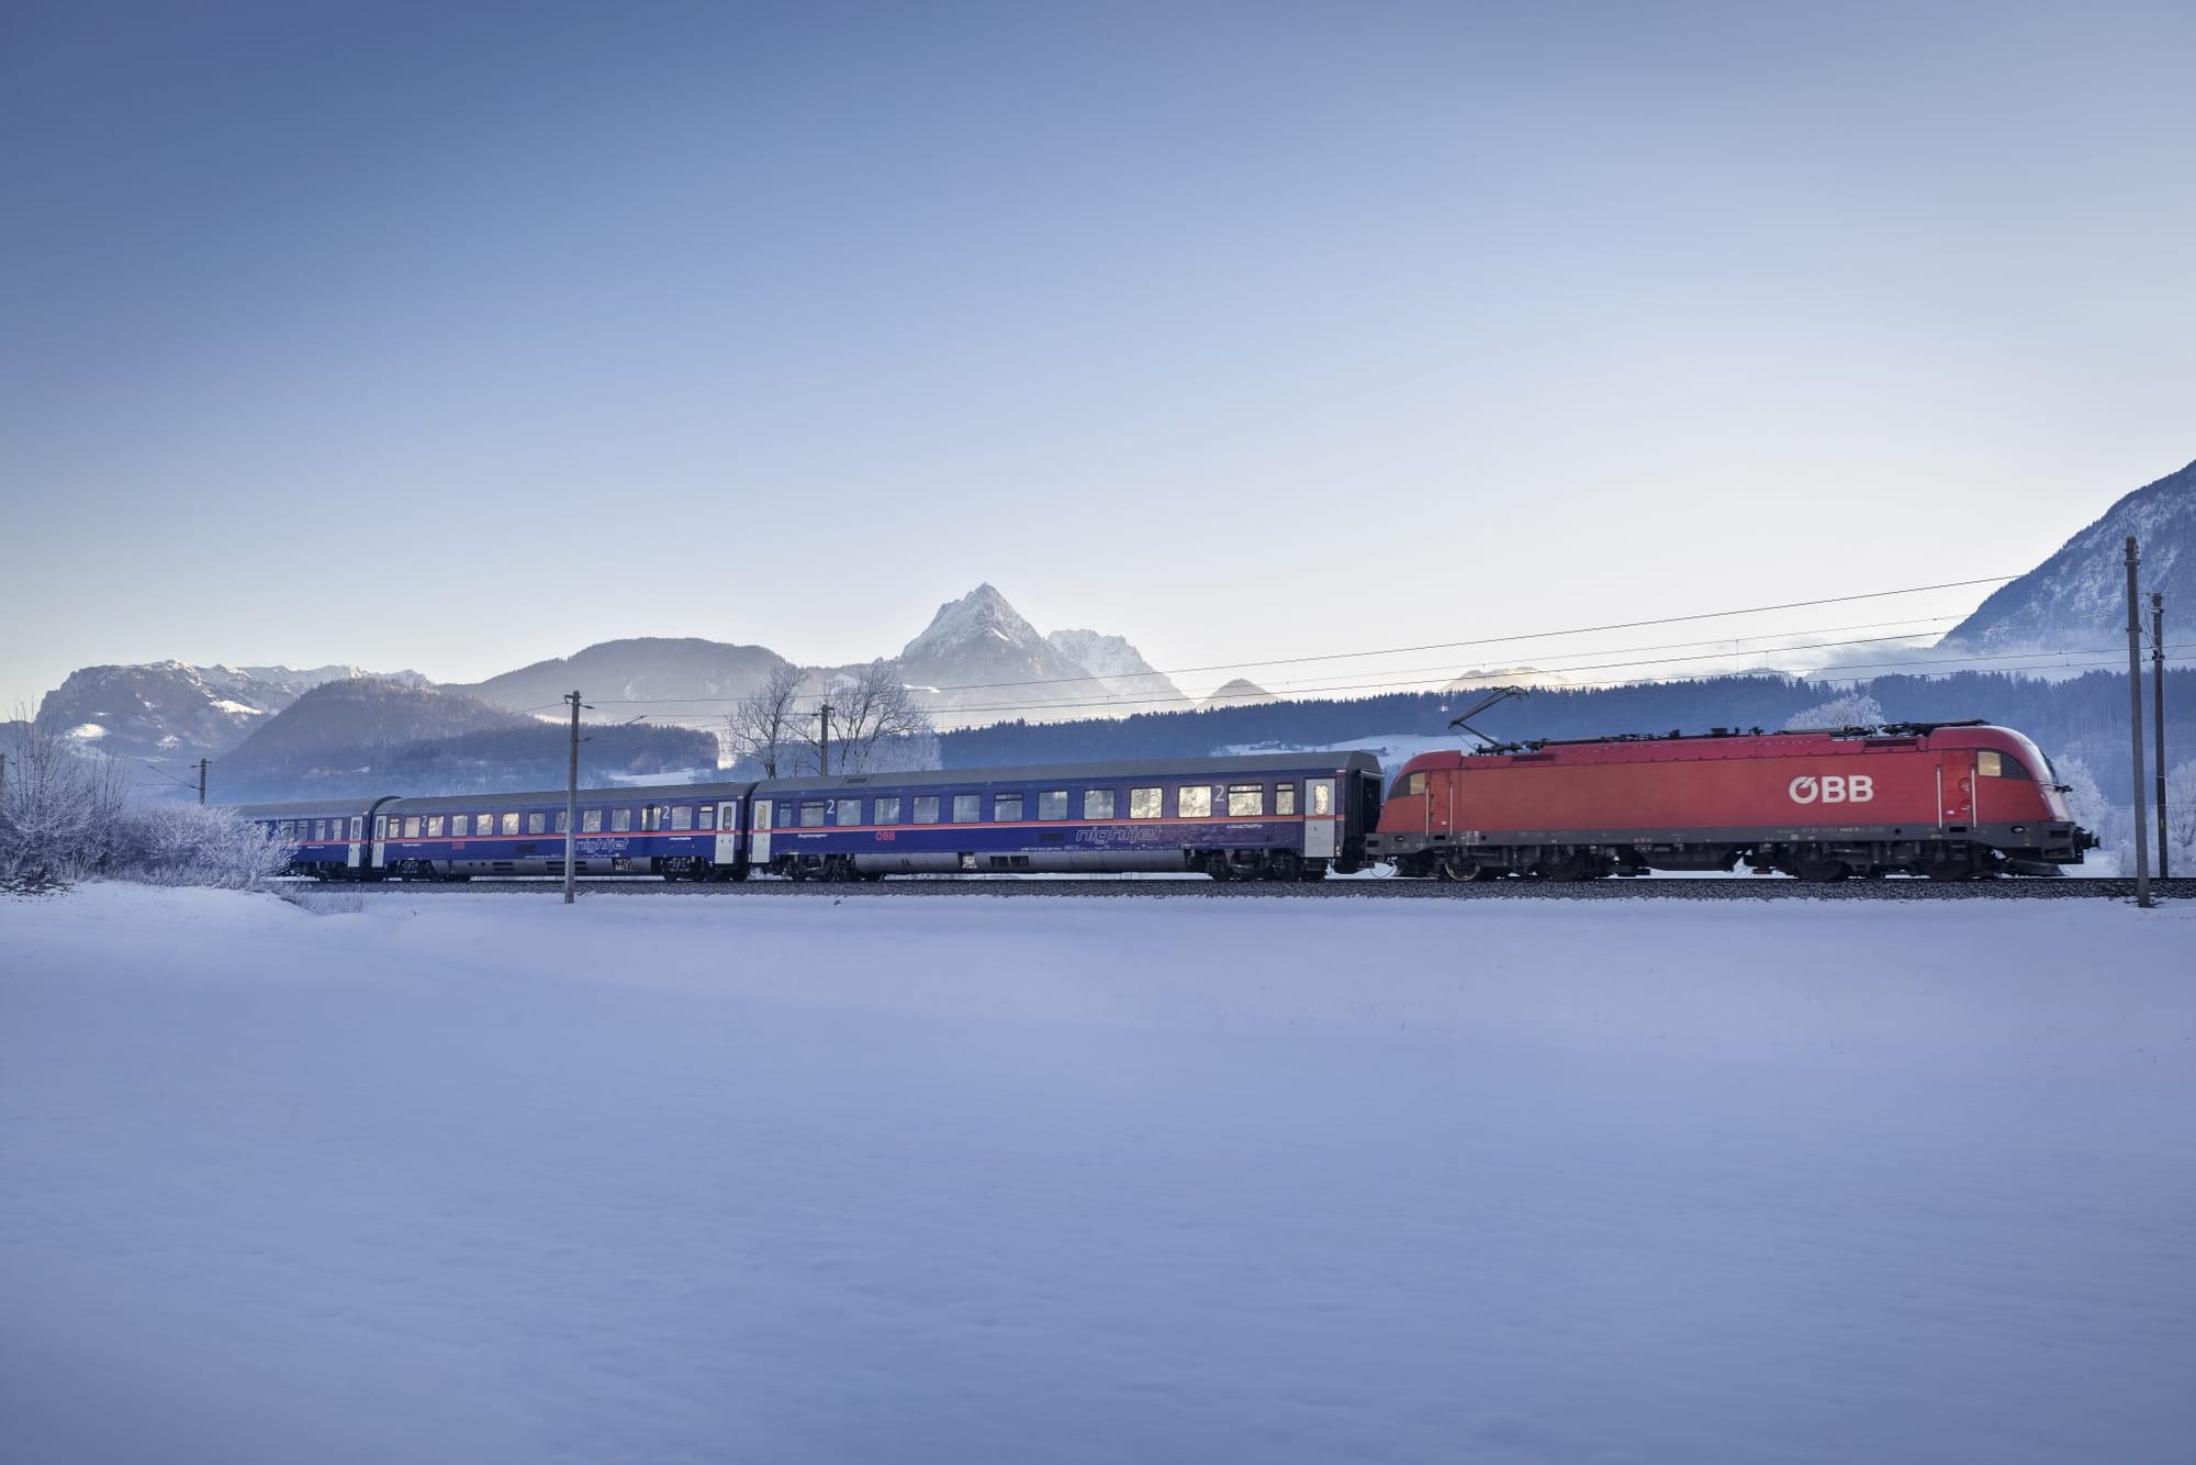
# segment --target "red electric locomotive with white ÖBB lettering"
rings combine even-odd
[[[2097,843],[2060,795],[2033,742],[1983,723],[1526,742],[1412,758],[1366,854],[1454,881],[2058,874]]]

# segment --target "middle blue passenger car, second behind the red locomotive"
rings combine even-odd
[[[573,874],[744,879],[751,784],[582,789]],[[395,879],[564,874],[564,791],[395,799],[373,817],[373,870]]]

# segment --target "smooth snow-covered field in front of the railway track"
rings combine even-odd
[[[0,901],[0,1458],[2187,1461],[2196,909]]]

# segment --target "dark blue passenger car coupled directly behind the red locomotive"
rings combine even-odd
[[[1370,753],[769,780],[749,861],[793,879],[1203,872],[1315,881],[1364,863]]]

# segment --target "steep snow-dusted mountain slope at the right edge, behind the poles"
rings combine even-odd
[[[1946,650],[2005,655],[2025,650],[2104,650],[2128,641],[2126,538],[2141,545],[2141,591],[2165,593],[2176,626],[2196,617],[2196,463],[2148,483],[2066,540],[2058,553],[1998,586],[1954,626]],[[2143,608],[2143,626],[2150,613]],[[2172,639],[2189,639],[2183,630]]]

